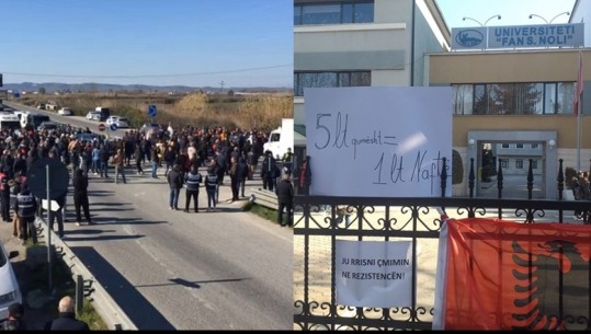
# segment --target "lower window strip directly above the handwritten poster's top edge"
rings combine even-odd
[[[296,72],[294,94],[304,96],[305,88],[368,87],[372,83],[370,71],[354,72]]]

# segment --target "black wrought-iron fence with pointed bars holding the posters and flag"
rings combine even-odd
[[[445,161],[443,165],[445,171]],[[442,185],[445,175],[442,173]],[[527,199],[503,199],[499,166],[498,198],[474,198],[474,166],[469,171],[470,197],[331,197],[295,196],[294,215],[294,329],[295,330],[431,330],[434,315],[436,249],[444,208],[450,217],[489,217],[522,223],[589,224],[591,205],[564,200],[562,161],[557,180],[558,200],[531,199],[533,176],[526,175]],[[445,188],[442,188],[445,194]],[[590,226],[591,229],[591,226]],[[409,240],[412,250],[411,307],[359,308],[336,302],[337,240]],[[586,293],[590,293],[591,266]],[[559,273],[558,275],[561,275]],[[561,280],[560,280],[561,281]],[[559,299],[568,298],[558,287]],[[588,296],[591,303],[591,296]],[[569,330],[589,330],[590,310],[564,314]],[[562,314],[562,313],[560,313]]]

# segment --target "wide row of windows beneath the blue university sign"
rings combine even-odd
[[[455,115],[542,115],[572,112],[575,82],[453,84]]]

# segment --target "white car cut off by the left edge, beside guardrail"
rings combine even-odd
[[[16,256],[19,256],[18,251],[8,253],[0,241],[0,322],[8,319],[8,308],[11,303],[23,302],[21,288],[10,262]]]

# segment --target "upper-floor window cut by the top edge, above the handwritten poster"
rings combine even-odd
[[[294,25],[374,22],[374,1],[306,3],[294,7]]]

